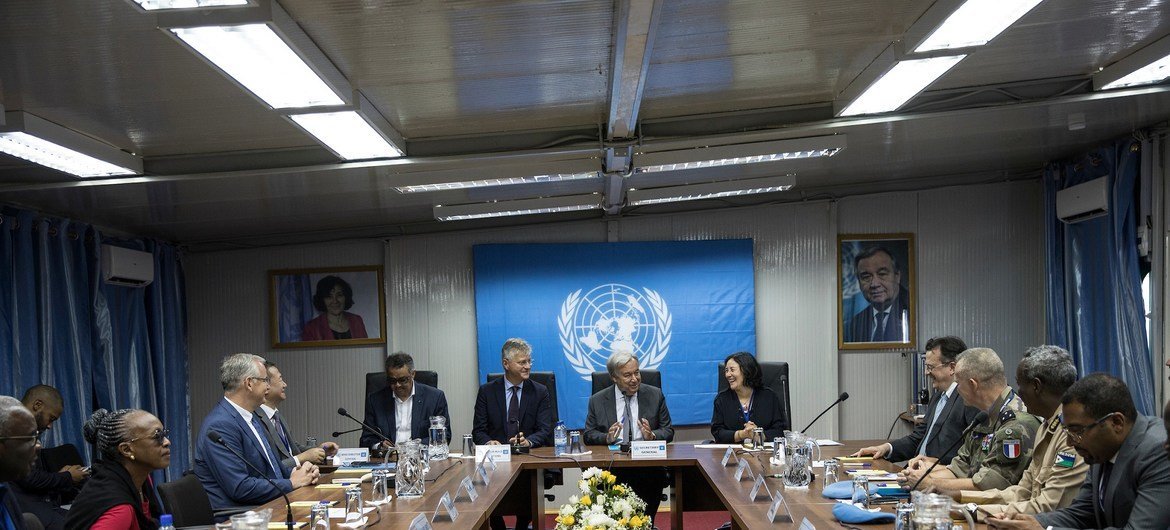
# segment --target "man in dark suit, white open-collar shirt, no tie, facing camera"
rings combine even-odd
[[[447,395],[441,390],[414,380],[414,358],[395,352],[386,357],[386,381],[390,386],[366,395],[365,424],[376,427],[394,443],[420,439],[431,441],[431,417],[441,415],[447,421],[447,441],[450,442],[450,414]],[[385,449],[390,446],[379,433],[364,431],[363,447]]]

